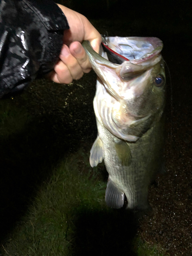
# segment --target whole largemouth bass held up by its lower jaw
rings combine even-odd
[[[102,37],[96,53],[83,41],[97,74],[93,100],[97,138],[90,164],[104,160],[109,174],[105,202],[111,208],[145,210],[148,188],[162,171],[165,68],[157,37]]]

